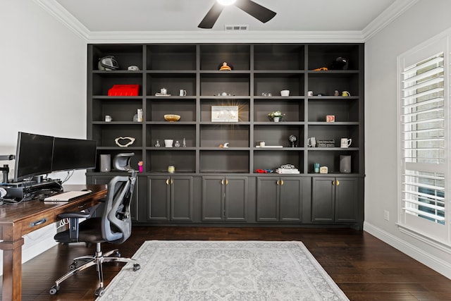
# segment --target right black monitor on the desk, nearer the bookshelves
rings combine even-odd
[[[52,171],[89,169],[96,167],[97,141],[59,138],[54,139]]]

